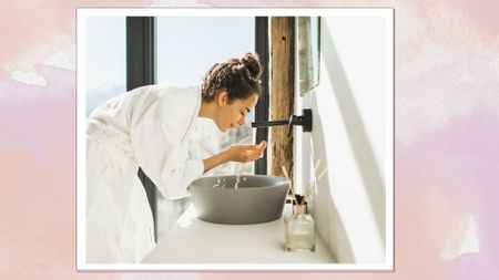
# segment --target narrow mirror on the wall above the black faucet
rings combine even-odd
[[[297,17],[298,92],[304,95],[318,85],[320,18]]]

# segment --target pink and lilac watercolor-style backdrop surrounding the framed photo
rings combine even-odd
[[[282,3],[242,2],[1,1],[0,279],[255,277],[75,271],[74,9]],[[295,0],[286,6],[354,3],[396,9],[396,271],[314,278],[499,279],[499,2]]]

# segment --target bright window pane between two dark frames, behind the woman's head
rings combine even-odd
[[[255,50],[254,17],[160,17],[157,18],[157,83],[201,84],[204,73],[217,62],[241,58]],[[253,111],[252,111],[253,112]],[[211,120],[198,118],[190,145],[190,156],[206,158],[236,143],[253,142],[249,127],[253,113],[244,127],[221,133]],[[223,165],[211,174],[234,174],[243,168],[254,173],[253,164]]]

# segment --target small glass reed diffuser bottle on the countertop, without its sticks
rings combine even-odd
[[[305,212],[306,205],[296,205],[296,212],[284,217],[284,249],[315,251],[314,218]]]

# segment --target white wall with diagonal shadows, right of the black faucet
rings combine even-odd
[[[314,112],[310,134],[295,129],[295,182],[327,166],[310,208],[339,262],[391,263],[393,10],[344,11],[322,17],[319,85],[295,97]]]

